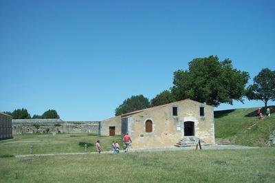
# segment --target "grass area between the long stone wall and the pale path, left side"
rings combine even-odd
[[[94,144],[100,140],[104,151],[111,150],[111,142],[118,141],[122,147],[120,136],[103,137],[91,133],[76,134],[25,134],[14,136],[12,140],[0,141],[1,155],[30,154],[30,146],[34,154],[41,153],[81,153],[85,152],[85,144],[88,144],[88,152],[95,151]]]

